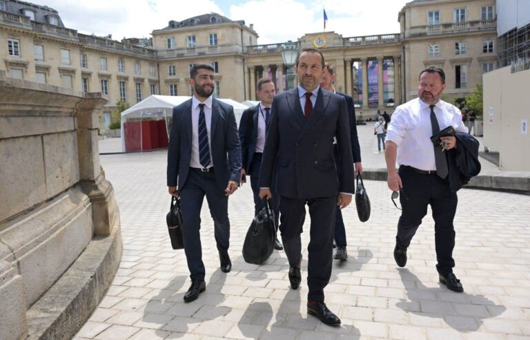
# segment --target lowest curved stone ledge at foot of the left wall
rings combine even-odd
[[[32,305],[27,339],[72,339],[103,299],[121,259],[121,231],[94,236],[70,268]]]

